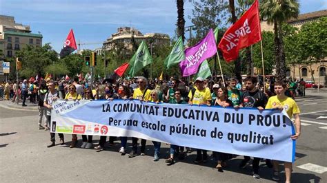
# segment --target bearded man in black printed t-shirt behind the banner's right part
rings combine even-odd
[[[241,107],[251,107],[251,108],[257,108],[259,110],[264,110],[266,107],[268,98],[264,94],[264,92],[259,91],[255,87],[257,84],[257,78],[248,76],[244,80],[245,86],[246,86],[246,92],[241,97],[240,103]],[[241,161],[239,164],[240,169],[245,169],[247,163],[250,161],[249,156],[244,156],[244,160]],[[260,158],[253,158],[252,161],[252,169],[253,169],[253,177],[259,179],[259,162]],[[273,167],[273,164],[271,164],[270,160],[266,160],[266,164],[268,167]]]

